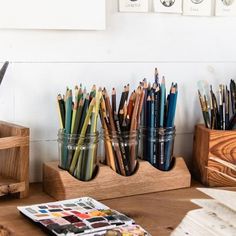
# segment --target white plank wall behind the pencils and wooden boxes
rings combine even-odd
[[[105,31],[0,30],[0,119],[30,127],[30,179],[57,159],[56,96],[68,85],[137,85],[154,67],[168,87],[179,83],[175,154],[189,161],[193,128],[202,122],[197,84],[236,79],[236,18],[119,13],[107,0]]]

